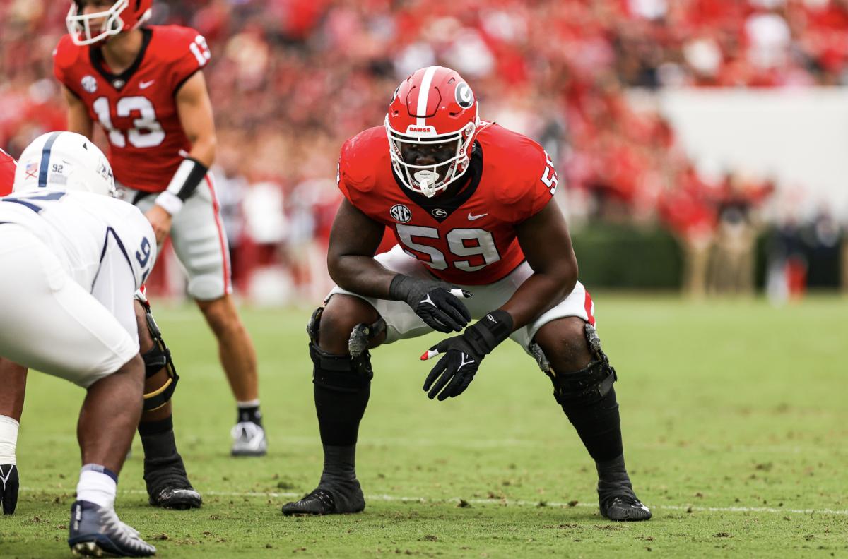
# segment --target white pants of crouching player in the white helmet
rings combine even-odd
[[[19,225],[0,224],[0,262],[0,356],[87,388],[137,355],[135,279],[116,245],[91,293]]]

